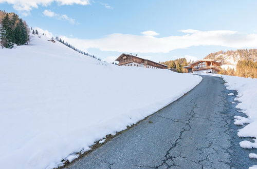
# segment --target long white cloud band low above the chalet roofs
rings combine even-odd
[[[98,39],[78,39],[65,36],[62,39],[81,50],[96,48],[102,51],[128,53],[168,53],[175,49],[209,45],[237,49],[257,47],[257,34],[241,34],[230,30],[182,31],[187,32],[187,34],[158,38],[154,36],[114,33]]]

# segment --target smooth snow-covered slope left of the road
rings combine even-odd
[[[194,88],[201,77],[119,67],[45,36],[0,49],[0,167],[52,168]],[[243,133],[243,132],[242,132]]]

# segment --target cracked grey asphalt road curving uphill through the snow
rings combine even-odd
[[[248,168],[233,124],[235,96],[221,78],[192,91],[66,168]],[[150,123],[152,121],[153,123]],[[255,152],[256,153],[256,152]]]

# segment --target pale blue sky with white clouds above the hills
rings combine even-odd
[[[256,0],[0,0],[0,10],[108,62],[121,53],[195,60],[257,48]]]

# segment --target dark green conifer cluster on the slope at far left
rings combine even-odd
[[[14,44],[24,45],[29,41],[29,29],[24,20],[15,13],[0,11],[0,39],[2,48],[13,48]]]

